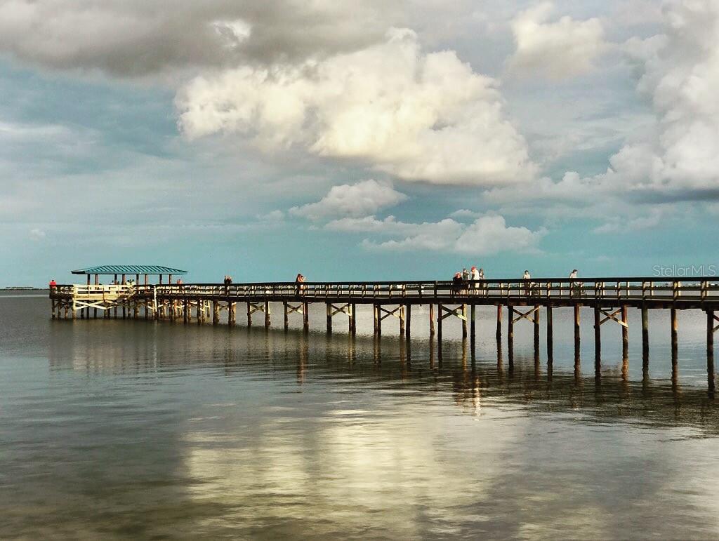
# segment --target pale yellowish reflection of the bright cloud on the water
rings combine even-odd
[[[491,437],[491,423],[447,417],[444,407],[423,419],[411,404],[371,392],[362,400],[362,409],[343,401],[301,421],[293,410],[267,408],[249,429],[224,410],[222,432],[229,438],[186,435],[186,468],[196,481],[191,494],[232,504],[237,515],[267,524],[308,520],[316,534],[338,525],[350,535],[366,531],[371,513],[370,531],[415,537],[427,526],[418,512],[430,514],[431,531],[439,533],[466,521],[462,509],[485,499],[500,476],[506,441],[523,425],[516,422],[500,442]],[[482,461],[462,460],[480,447]]]

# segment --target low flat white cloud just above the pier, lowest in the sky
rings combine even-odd
[[[406,223],[393,216],[383,220],[375,216],[342,218],[327,223],[333,231],[375,233],[393,237],[389,240],[362,241],[367,249],[432,250],[459,254],[490,255],[502,251],[537,251],[546,231],[531,231],[526,227],[507,226],[505,218],[485,215],[470,224],[452,218],[438,222]]]

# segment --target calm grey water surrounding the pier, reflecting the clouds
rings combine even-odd
[[[649,376],[630,310],[626,376],[603,325],[595,379],[589,311],[575,374],[555,310],[551,376],[527,323],[508,366],[491,310],[474,352],[448,320],[441,360],[426,307],[410,348],[389,320],[368,335],[370,310],[354,340],[315,311],[303,336],[51,321],[0,294],[0,537],[719,537],[702,313],[680,315],[673,384],[660,312]]]

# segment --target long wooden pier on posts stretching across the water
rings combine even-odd
[[[173,269],[174,272],[183,273]],[[79,272],[78,272],[79,273]],[[84,271],[83,271],[84,273]],[[168,273],[169,274],[169,273]],[[168,282],[171,277],[168,276]],[[247,325],[272,324],[271,303],[283,306],[283,326],[290,317],[300,317],[309,330],[308,314],[314,305],[324,305],[326,331],[334,330],[334,320],[342,318],[347,332],[357,332],[357,305],[372,305],[374,333],[380,336],[389,320],[398,321],[400,335],[409,338],[413,325],[412,308],[429,305],[430,336],[441,343],[443,326],[459,320],[462,338],[475,341],[477,306],[496,307],[496,338],[503,333],[506,314],[508,361],[513,362],[514,325],[533,325],[534,347],[539,355],[540,323],[546,325],[547,361],[553,357],[553,321],[555,309],[574,312],[575,364],[579,363],[580,308],[594,313],[595,367],[601,362],[601,328],[605,323],[621,326],[623,356],[628,353],[628,309],[641,310],[641,337],[645,371],[649,366],[649,310],[670,310],[669,333],[672,338],[672,371],[677,364],[677,310],[703,310],[706,313],[707,382],[715,387],[714,333],[719,329],[719,279],[657,279],[656,277],[487,279],[480,282],[260,282],[247,284],[172,284],[139,283],[132,285],[58,285],[50,290],[52,318],[104,317],[182,320],[183,323],[219,325],[221,313],[226,324],[237,324],[237,304],[247,308]],[[95,280],[97,282],[97,278]],[[124,282],[124,280],[123,280]],[[257,318],[257,320],[255,320]],[[440,348],[441,354],[441,348]],[[578,369],[578,367],[577,367]]]

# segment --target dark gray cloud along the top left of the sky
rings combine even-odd
[[[294,61],[380,39],[400,7],[375,0],[5,0],[0,50],[49,68],[120,77]]]

